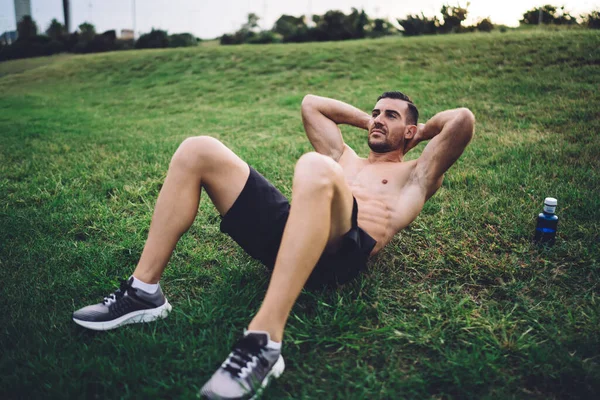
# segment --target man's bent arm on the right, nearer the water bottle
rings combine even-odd
[[[439,187],[444,173],[454,164],[473,137],[475,117],[467,108],[442,111],[419,124],[406,151],[423,140],[430,140],[417,159],[413,178],[427,191],[429,198]],[[416,140],[415,140],[416,139]]]

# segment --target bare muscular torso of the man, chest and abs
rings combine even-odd
[[[346,147],[338,162],[358,203],[358,226],[377,240],[371,253],[375,254],[406,228],[425,204],[426,190],[411,178],[416,161],[370,163]]]

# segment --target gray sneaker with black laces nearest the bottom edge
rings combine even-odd
[[[285,369],[280,350],[267,347],[269,334],[248,332],[200,390],[204,399],[254,400]]]

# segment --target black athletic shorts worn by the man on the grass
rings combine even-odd
[[[273,269],[290,213],[290,203],[265,177],[250,167],[250,176],[231,209],[221,221],[227,233],[253,258]],[[335,286],[355,278],[366,269],[375,244],[357,225],[358,205],[354,199],[352,228],[334,253],[323,253],[307,286]]]

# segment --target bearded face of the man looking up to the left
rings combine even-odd
[[[375,153],[404,149],[405,139],[412,137],[406,122],[408,103],[398,99],[381,99],[375,104],[369,121],[369,148]]]

